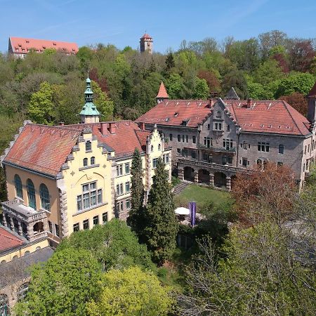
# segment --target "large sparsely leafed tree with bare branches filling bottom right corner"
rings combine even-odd
[[[232,230],[219,250],[202,239],[202,254],[186,271],[180,315],[315,315],[316,274],[302,265],[292,239],[271,223]]]

